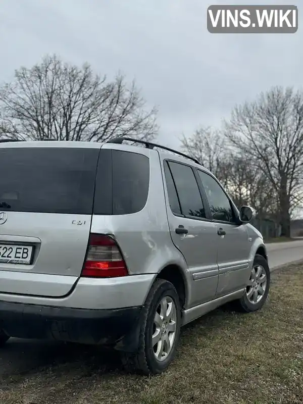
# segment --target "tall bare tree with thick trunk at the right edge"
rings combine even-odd
[[[302,92],[275,87],[256,102],[235,107],[226,136],[270,181],[278,199],[281,235],[289,237],[291,209],[302,196]]]

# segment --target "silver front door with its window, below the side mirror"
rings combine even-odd
[[[209,173],[197,171],[217,228],[219,280],[216,297],[220,297],[247,286],[251,243],[246,225],[236,223],[231,201],[219,182]]]

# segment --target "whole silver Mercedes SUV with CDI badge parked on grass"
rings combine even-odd
[[[230,301],[263,306],[254,211],[194,159],[125,140],[0,143],[1,346],[105,344],[127,369],[157,374],[184,324]]]

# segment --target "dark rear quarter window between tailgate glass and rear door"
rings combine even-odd
[[[149,189],[148,157],[129,151],[101,149],[94,214],[127,215],[141,211]]]

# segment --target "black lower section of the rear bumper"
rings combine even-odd
[[[88,310],[0,301],[0,329],[12,337],[118,343],[132,350],[140,312],[141,307]]]

